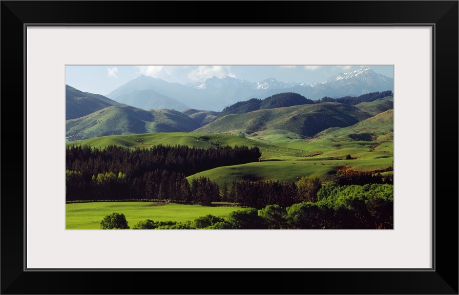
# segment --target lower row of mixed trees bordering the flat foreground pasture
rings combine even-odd
[[[261,209],[267,205],[288,207],[300,202],[317,202],[318,192],[322,187],[317,176],[302,177],[297,182],[232,181],[229,185],[224,183],[219,187],[209,178],[193,178],[189,182],[185,174],[165,169],[137,175],[101,172],[93,174],[90,180],[87,180],[84,172],[66,170],[66,200],[141,199],[205,206],[223,201]],[[333,183],[342,186],[393,184],[393,181],[392,176],[383,177],[380,173],[343,171],[333,178]]]

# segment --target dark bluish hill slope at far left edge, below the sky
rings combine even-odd
[[[82,92],[66,85],[66,120],[80,118],[111,106],[120,107],[123,104],[103,95]]]

